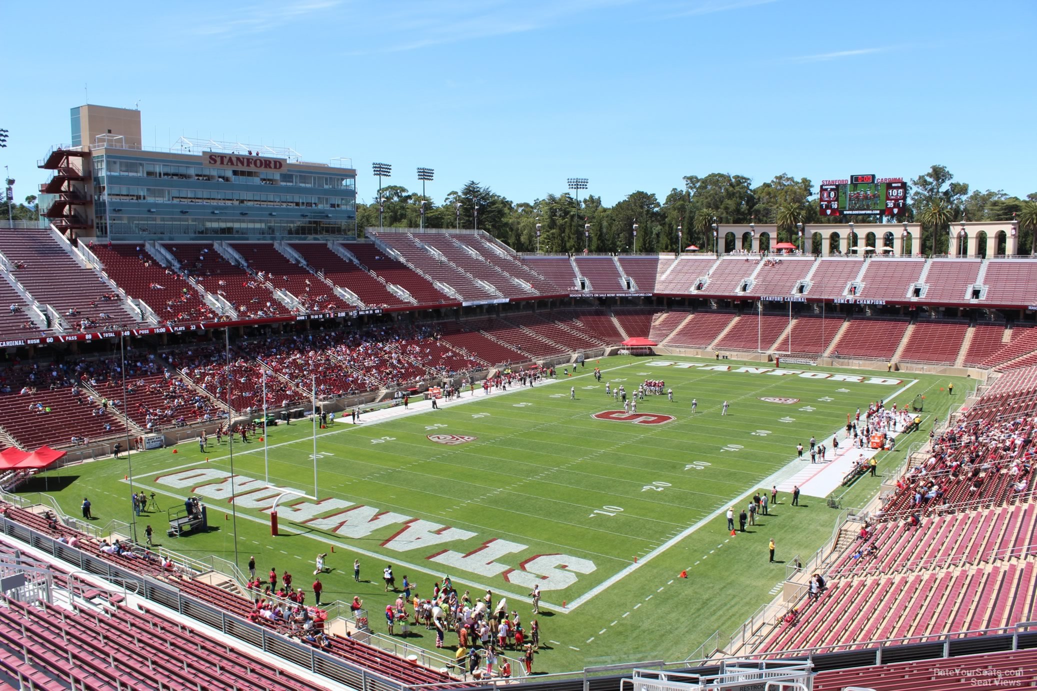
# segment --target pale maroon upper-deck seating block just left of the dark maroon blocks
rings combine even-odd
[[[0,230],[0,252],[15,267],[13,278],[33,300],[51,305],[73,331],[136,324],[101,277],[76,264],[50,230]],[[3,305],[8,313],[11,302]],[[68,314],[69,310],[76,313]],[[83,320],[88,322],[85,329],[81,328]]]

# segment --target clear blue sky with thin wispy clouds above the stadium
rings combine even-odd
[[[513,200],[664,198],[681,176],[914,177],[1037,192],[1037,2],[278,0],[11,2],[0,128],[21,200],[68,109],[134,107],[177,136],[436,169]],[[18,27],[23,27],[20,30]],[[64,50],[60,27],[79,27]]]

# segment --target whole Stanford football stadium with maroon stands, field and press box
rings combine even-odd
[[[0,219],[0,685],[1037,683],[1032,209],[853,174],[599,251],[584,178],[521,240],[141,114]]]

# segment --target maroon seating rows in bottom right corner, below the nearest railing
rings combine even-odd
[[[960,691],[962,684],[980,681],[989,682],[985,686],[990,689],[1026,688],[1037,685],[1035,667],[1037,651],[984,653],[822,671],[814,675],[813,689],[841,691],[854,687],[882,691]]]

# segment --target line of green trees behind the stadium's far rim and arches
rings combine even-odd
[[[459,192],[450,192],[441,203],[407,188],[390,186],[382,188],[382,223],[389,227],[418,227],[421,202],[425,201],[425,227],[478,227],[518,251],[533,252],[537,250],[539,224],[540,252],[579,253],[585,248],[591,252],[635,251],[635,224],[636,251],[675,252],[678,242],[685,247],[712,250],[714,219],[717,223],[777,224],[778,238],[773,242],[793,243],[797,223],[877,221],[878,217],[822,217],[814,188],[809,178],[785,173],[756,186],[745,175],[685,175],[683,185],[670,190],[662,201],[652,193],[637,191],[606,206],[600,197],[590,195],[578,201],[569,193],[514,202],[474,181]],[[358,203],[357,227],[377,227],[379,211],[376,201]],[[908,183],[906,212],[897,217],[897,222],[921,223],[922,252],[947,254],[951,224],[1013,219],[1019,224],[1018,251],[1029,254],[1037,229],[1037,192],[1020,199],[1002,190],[971,190],[969,184],[955,181],[947,167],[934,165]],[[729,246],[725,251],[731,249]]]

